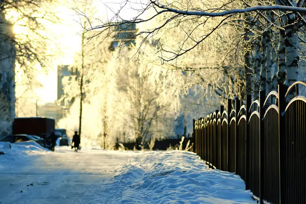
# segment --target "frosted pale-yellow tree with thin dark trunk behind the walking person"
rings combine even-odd
[[[82,46],[81,43],[80,46]],[[88,119],[87,113],[89,110],[87,109],[90,108],[90,110],[93,110],[90,106],[94,100],[100,102],[107,98],[107,86],[110,80],[110,72],[108,71],[107,63],[113,58],[109,46],[110,43],[101,42],[100,39],[90,41],[86,46],[82,46],[81,52],[75,55],[74,64],[70,66],[71,70],[79,71],[79,76],[73,75],[72,77],[64,77],[62,81],[64,87],[62,100],[65,102],[65,107],[69,109],[71,104],[73,104],[72,108],[70,107],[69,110],[70,114],[67,115],[66,119],[72,116],[72,111],[74,112],[73,117],[75,117],[75,112],[79,113],[79,124],[75,126],[73,123],[73,127],[71,125],[68,129],[73,129],[74,131],[83,129],[82,132],[84,134],[82,135],[85,138],[91,137],[91,133],[89,134],[88,130],[85,130],[89,127],[82,124],[86,118]],[[77,107],[75,103],[77,103],[77,101],[79,103],[79,110],[75,110],[75,107]],[[98,105],[95,104],[97,106],[95,112],[103,115],[101,116],[102,118],[99,119],[103,121],[101,124],[108,123],[108,118],[106,117],[108,105],[105,103],[106,101]],[[85,114],[85,116],[83,114]],[[106,129],[106,127],[99,126],[98,134],[108,135]],[[84,138],[83,136],[82,138]]]

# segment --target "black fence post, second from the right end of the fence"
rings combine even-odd
[[[266,91],[259,91],[259,135],[260,135],[260,203],[264,203],[264,187],[265,187],[265,179],[264,179],[264,162],[265,162],[265,122],[264,122],[264,103],[266,98]]]

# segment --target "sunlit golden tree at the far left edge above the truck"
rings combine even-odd
[[[50,65],[52,33],[47,22],[58,22],[53,13],[57,1],[0,1],[0,92],[6,95],[11,126],[15,117],[15,88],[18,81],[31,84],[38,71],[46,71]],[[7,118],[7,119],[8,119]],[[0,120],[6,120],[0,116]],[[11,130],[11,127],[9,128]]]

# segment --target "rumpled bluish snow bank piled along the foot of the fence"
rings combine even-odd
[[[255,203],[240,176],[184,151],[149,151],[121,166],[109,203]]]

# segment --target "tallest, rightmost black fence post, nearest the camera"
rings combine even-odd
[[[286,178],[286,104],[285,104],[286,86],[278,85],[278,141],[279,141],[279,200],[280,203],[287,203],[287,178]],[[283,115],[284,113],[284,115]]]

